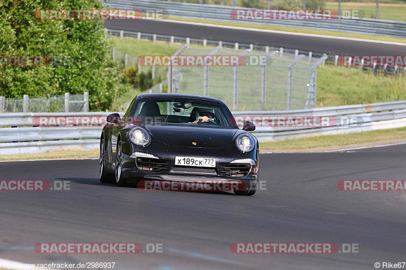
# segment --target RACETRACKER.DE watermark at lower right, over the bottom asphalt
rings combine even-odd
[[[343,243],[233,243],[236,254],[332,254],[359,253],[359,244]]]

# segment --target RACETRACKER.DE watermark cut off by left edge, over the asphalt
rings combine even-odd
[[[0,191],[71,190],[70,181],[0,180]]]

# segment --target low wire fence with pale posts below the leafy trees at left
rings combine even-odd
[[[64,95],[5,98],[0,96],[0,112],[87,112],[89,111],[89,93],[82,95]]]

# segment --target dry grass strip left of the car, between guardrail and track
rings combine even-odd
[[[2,155],[2,156],[0,156],[0,161],[84,159],[84,158],[98,158],[98,157],[99,157],[98,148],[91,149],[91,150],[63,149],[63,150],[48,151],[46,153]]]

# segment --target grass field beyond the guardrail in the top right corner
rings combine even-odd
[[[338,10],[339,4],[328,2],[327,9]],[[376,3],[341,3],[342,10],[361,10],[365,13],[364,18],[376,18]],[[389,21],[406,22],[405,4],[380,4],[379,19]]]

